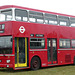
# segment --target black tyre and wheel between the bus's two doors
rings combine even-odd
[[[40,59],[38,57],[33,57],[31,60],[31,69],[37,70],[40,68]]]

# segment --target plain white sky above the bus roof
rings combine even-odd
[[[0,0],[0,6],[17,5],[75,16],[74,0]]]

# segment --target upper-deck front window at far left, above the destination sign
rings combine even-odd
[[[12,10],[3,10],[0,13],[0,21],[10,21],[12,20]]]

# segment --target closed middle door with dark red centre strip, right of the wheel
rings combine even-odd
[[[57,39],[47,39],[48,64],[57,63]]]

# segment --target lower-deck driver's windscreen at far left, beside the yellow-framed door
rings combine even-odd
[[[0,54],[12,53],[12,36],[0,37]]]

